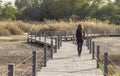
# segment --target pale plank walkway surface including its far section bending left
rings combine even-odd
[[[71,38],[73,42],[61,42],[67,38]],[[96,60],[92,59],[92,54],[85,46],[86,41],[84,41],[82,55],[78,56],[77,45],[73,44],[74,38],[74,35],[66,37],[58,35],[49,38],[29,35],[28,41],[52,44],[58,48],[57,53],[53,54],[52,59],[45,63],[45,67],[42,67],[36,76],[103,76],[103,72],[97,68]]]

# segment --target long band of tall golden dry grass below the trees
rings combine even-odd
[[[60,31],[73,32],[77,28],[77,24],[82,24],[87,33],[120,33],[120,27],[103,23],[100,21],[44,21],[44,22],[23,22],[23,21],[0,21],[0,35],[16,35],[23,32],[33,31]]]

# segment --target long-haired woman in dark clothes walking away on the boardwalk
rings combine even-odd
[[[78,56],[81,55],[82,45],[83,45],[84,32],[82,26],[79,24],[76,30],[76,41],[77,41],[77,50]]]

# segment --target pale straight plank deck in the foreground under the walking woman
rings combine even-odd
[[[63,42],[61,49],[37,72],[37,76],[103,76],[103,72],[96,68],[96,60],[92,60],[85,45],[79,57],[76,45]]]

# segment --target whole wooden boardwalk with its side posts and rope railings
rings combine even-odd
[[[32,58],[32,76],[108,76],[108,53],[104,53],[104,56],[102,56],[103,63],[100,63],[100,47],[97,46],[95,48],[95,42],[91,40],[92,37],[96,36],[101,35],[86,35],[82,54],[79,57],[77,45],[75,45],[75,35],[61,36],[59,33],[53,34],[52,32],[49,35],[46,35],[45,32],[43,34],[28,34],[28,42],[44,44],[43,66],[39,68],[39,71],[36,70],[37,56],[36,51],[33,51],[32,56],[16,65],[15,68]],[[72,41],[66,42],[67,38],[70,38]],[[49,60],[46,59],[48,46],[51,47],[51,59]],[[112,62],[110,59],[109,61]],[[104,65],[102,69],[100,69],[100,64]],[[30,68],[31,66],[28,67],[28,70]],[[117,69],[120,70],[119,67]],[[13,64],[8,65],[8,72],[2,76],[6,76],[6,74],[14,76]],[[21,76],[26,75],[23,73]]]

